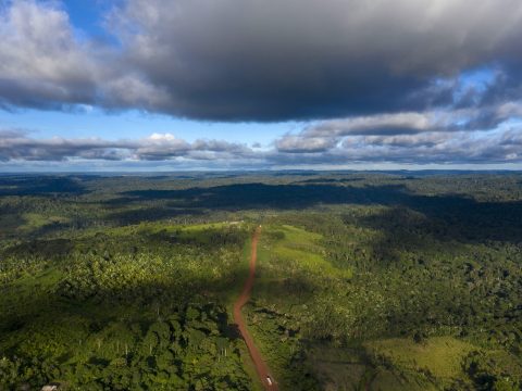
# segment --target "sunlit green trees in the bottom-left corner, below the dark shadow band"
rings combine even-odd
[[[213,390],[220,389],[219,384],[249,389],[250,380],[237,353],[238,341],[219,332],[226,327],[222,307],[191,304],[177,308],[172,317],[177,328],[171,327],[172,320],[149,320],[146,326],[138,317],[111,321],[88,333],[76,329],[33,335],[30,343],[18,342],[16,357],[0,361],[0,383],[12,387],[27,381],[38,387],[61,379],[78,390]],[[202,319],[207,327],[196,328],[201,327]],[[74,336],[83,339],[73,343]],[[44,343],[55,348],[42,349]]]

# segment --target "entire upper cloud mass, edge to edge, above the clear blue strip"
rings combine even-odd
[[[522,92],[519,0],[125,0],[103,18],[104,42],[58,1],[5,1],[0,104],[268,122],[482,108]],[[462,78],[474,70],[493,77]]]

